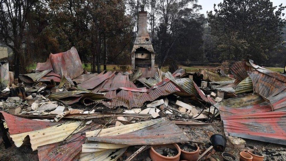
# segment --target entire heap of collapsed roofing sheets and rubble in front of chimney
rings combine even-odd
[[[75,48],[50,55],[35,73],[3,87],[0,127],[6,150],[28,143],[38,160],[151,160],[150,147],[193,143],[199,148],[195,160],[223,160],[210,146],[213,134],[224,137],[224,152],[236,158],[242,148],[269,157],[272,149],[265,143],[285,148],[286,77],[251,60],[237,62],[247,68],[234,64],[232,78],[216,70],[157,68],[92,74],[54,66],[54,57],[79,59]],[[256,80],[259,74],[264,82]],[[253,87],[240,84],[245,79]],[[274,85],[268,89],[270,79]]]

